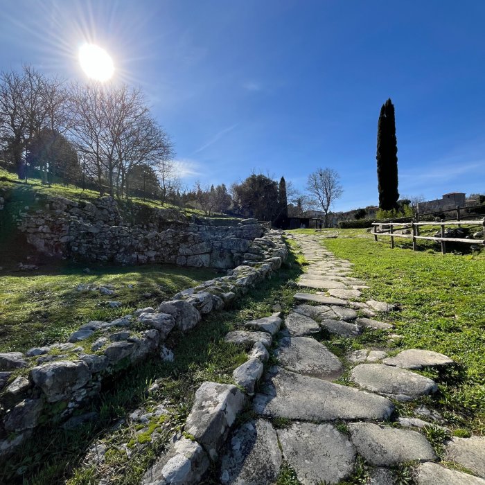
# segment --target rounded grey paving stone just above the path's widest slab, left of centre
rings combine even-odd
[[[276,357],[282,367],[303,376],[335,380],[344,373],[339,358],[324,344],[309,337],[284,337]]]

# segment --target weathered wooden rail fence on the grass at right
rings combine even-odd
[[[374,240],[377,241],[377,236],[388,236],[391,238],[391,248],[394,249],[394,238],[408,238],[412,239],[412,249],[416,251],[418,247],[418,240],[429,240],[441,243],[441,252],[446,254],[446,243],[465,243],[465,244],[476,244],[485,245],[485,219],[483,221],[479,220],[451,220],[441,222],[373,222],[373,235]],[[445,226],[479,226],[482,227],[483,236],[482,239],[465,239],[465,238],[446,238]],[[378,231],[378,226],[385,226],[385,229]],[[400,229],[411,229],[411,234],[395,233],[394,227],[400,227]],[[422,226],[440,226],[441,227],[441,237],[433,236],[420,236],[419,228]],[[388,227],[388,229],[387,229]]]

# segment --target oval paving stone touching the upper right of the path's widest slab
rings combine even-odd
[[[438,385],[430,378],[385,364],[360,364],[352,369],[351,379],[364,389],[391,395],[399,400],[406,400],[406,396],[414,398],[432,394],[438,390]]]

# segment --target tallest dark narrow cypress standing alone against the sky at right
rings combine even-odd
[[[398,208],[398,141],[394,105],[389,98],[380,108],[377,125],[377,179],[379,207],[385,211]]]

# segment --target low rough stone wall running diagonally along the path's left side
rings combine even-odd
[[[279,231],[256,238],[248,251],[259,261],[247,260],[227,276],[179,292],[157,309],[141,308],[110,322],[89,321],[69,342],[25,354],[0,353],[0,458],[39,425],[72,427],[93,418],[78,410],[98,396],[105,379],[148,358],[173,358],[164,346],[173,328],[191,330],[204,315],[224,308],[278,270],[288,254]],[[229,394],[235,396],[232,388]]]

